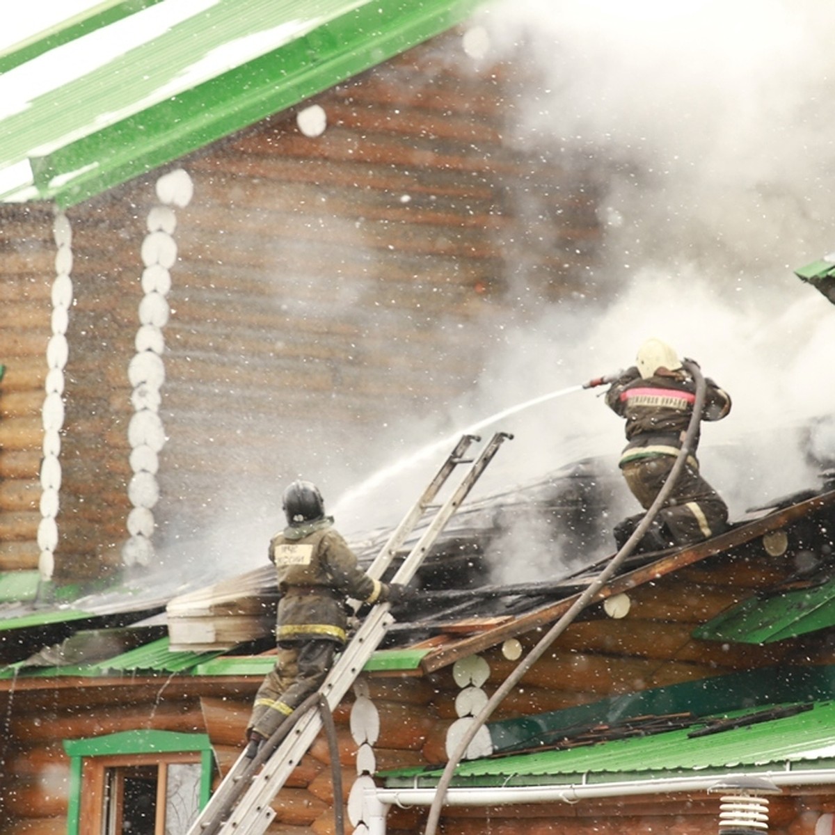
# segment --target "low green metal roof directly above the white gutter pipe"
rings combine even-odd
[[[723,714],[743,717],[748,711]],[[453,787],[510,787],[554,782],[605,783],[725,773],[728,769],[835,769],[835,703],[706,736],[692,729],[633,736],[563,751],[488,757],[461,763]],[[433,787],[443,769],[385,772],[387,787]],[[833,774],[835,780],[835,774]]]

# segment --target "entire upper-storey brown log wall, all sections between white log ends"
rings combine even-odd
[[[549,147],[514,147],[508,103],[525,78],[456,66],[460,34],[68,210],[55,579],[109,574],[128,538],[127,369],[140,249],[167,170],[183,168],[194,196],[175,210],[158,547],[199,540],[230,492],[241,507],[274,509],[286,480],[307,473],[338,494],[388,463],[406,418],[445,431],[445,408],[477,381],[509,317],[582,286],[600,175]],[[314,104],[327,127],[306,136],[296,115]],[[13,313],[0,323],[5,570],[38,558],[55,244],[50,208],[2,206],[0,218],[0,292]]]

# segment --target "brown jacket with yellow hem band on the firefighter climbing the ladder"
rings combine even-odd
[[[348,597],[375,603],[388,587],[365,574],[342,535],[325,517],[289,525],[270,543],[281,600],[276,640],[326,639],[345,643]]]

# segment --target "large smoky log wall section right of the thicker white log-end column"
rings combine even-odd
[[[301,107],[185,160],[160,482],[201,493],[195,526],[243,492],[217,473],[272,510],[299,473],[334,496],[388,463],[477,380],[511,280],[535,261],[531,292],[556,300],[592,261],[589,175],[504,143],[507,83],[439,63],[456,37],[305,103],[321,136]]]

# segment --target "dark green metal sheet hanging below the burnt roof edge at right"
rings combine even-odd
[[[693,636],[736,644],[770,644],[835,625],[835,578],[808,589],[742,600]]]

